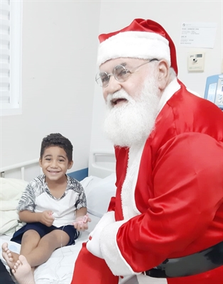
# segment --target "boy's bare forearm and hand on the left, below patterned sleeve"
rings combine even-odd
[[[40,222],[45,226],[52,226],[54,221],[52,214],[53,212],[51,210],[46,210],[43,212],[31,212],[28,210],[23,210],[18,212],[19,219],[22,222]]]

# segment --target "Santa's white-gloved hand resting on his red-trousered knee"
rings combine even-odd
[[[87,250],[94,254],[94,256],[97,256],[99,258],[103,258],[102,251],[100,248],[100,236],[102,229],[104,229],[105,226],[115,222],[114,220],[114,212],[107,212],[103,215],[102,219],[98,222],[98,224],[95,226],[94,230],[89,234],[89,238],[86,244]]]

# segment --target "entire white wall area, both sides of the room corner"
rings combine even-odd
[[[102,89],[94,82],[98,35],[134,18],[161,23],[175,42],[179,79],[203,96],[207,76],[221,72],[222,6],[222,0],[23,1],[23,114],[1,117],[1,167],[38,158],[43,136],[53,132],[72,141],[71,171],[87,168],[89,149],[113,151],[102,133]],[[193,50],[179,45],[183,21],[218,24],[214,49],[205,49],[205,72],[187,72]]]

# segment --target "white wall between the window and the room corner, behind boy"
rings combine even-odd
[[[1,117],[1,167],[39,157],[60,132],[74,146],[72,170],[87,168],[99,1],[23,1],[23,113]]]

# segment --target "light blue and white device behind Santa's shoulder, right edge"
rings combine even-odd
[[[223,110],[223,74],[207,77],[205,99]]]

